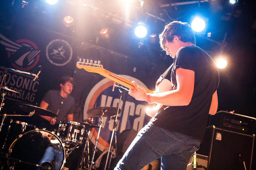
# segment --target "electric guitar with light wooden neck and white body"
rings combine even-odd
[[[79,62],[76,63],[76,67],[81,69],[83,68],[84,70],[88,71],[88,72],[93,72],[93,73],[98,73],[101,76],[104,76],[110,80],[115,81],[116,83],[125,86],[128,89],[131,90],[135,90],[135,87],[133,86],[133,84],[131,83],[130,80],[127,80],[121,76],[118,76],[110,71],[107,71],[103,68],[103,65],[101,65],[101,62],[94,62],[92,63],[92,60],[89,62],[89,60],[87,60],[87,62],[85,62],[85,59],[83,60],[83,62],[81,61],[81,59],[79,59]],[[138,85],[140,88],[144,89],[147,93],[160,93],[160,92],[165,92],[171,89],[171,82],[167,79],[162,80],[162,82],[158,85],[155,86],[155,92],[152,90],[149,90],[145,87],[142,87],[141,85]],[[146,109],[146,114],[153,117],[155,115],[155,113],[158,111],[159,108],[161,108],[163,105],[161,104],[157,104],[156,107],[154,108],[150,108],[150,109]]]

